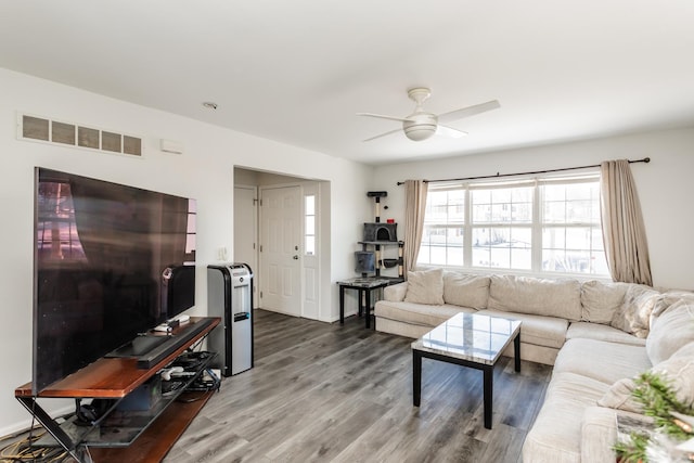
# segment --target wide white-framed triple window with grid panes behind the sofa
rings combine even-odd
[[[607,275],[600,178],[429,183],[417,261]]]

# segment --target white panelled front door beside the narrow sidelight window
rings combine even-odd
[[[301,191],[262,189],[260,205],[260,307],[301,316]]]

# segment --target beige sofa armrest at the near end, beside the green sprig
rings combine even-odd
[[[614,463],[617,454],[613,450],[617,443],[617,414],[633,416],[641,421],[651,419],[624,410],[606,407],[589,407],[581,423],[581,461]]]

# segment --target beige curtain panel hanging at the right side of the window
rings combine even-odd
[[[653,285],[637,185],[627,159],[601,164],[603,241],[614,281]]]

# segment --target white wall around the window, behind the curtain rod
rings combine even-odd
[[[402,223],[404,187],[396,187],[397,181],[514,173],[643,157],[650,157],[651,163],[632,164],[631,171],[643,209],[654,285],[694,290],[694,128],[380,166],[372,190],[388,190],[390,209],[386,215]]]

